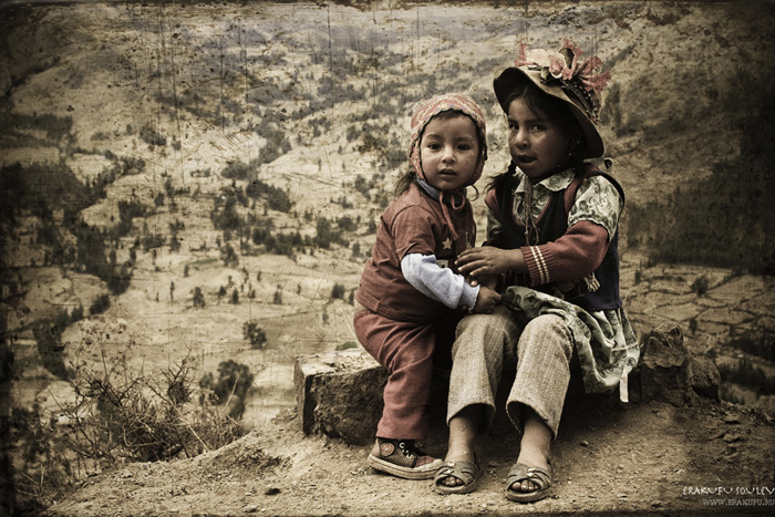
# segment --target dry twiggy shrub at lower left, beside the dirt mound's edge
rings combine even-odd
[[[73,431],[64,431],[63,440],[79,457],[108,464],[167,459],[178,453],[192,457],[239,436],[234,418],[206,401],[198,407],[189,404],[189,358],[156,378],[132,372],[126,351],[99,369],[81,363],[75,372],[75,402],[63,407]]]

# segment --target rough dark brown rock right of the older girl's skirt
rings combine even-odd
[[[643,337],[641,361],[631,375],[636,401],[683,405],[699,396],[720,401],[721,375],[712,361],[693,356],[680,327],[654,329]]]

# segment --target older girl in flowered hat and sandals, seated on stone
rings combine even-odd
[[[566,40],[560,52],[520,56],[494,82],[508,120],[512,164],[495,178],[487,242],[457,260],[483,286],[503,286],[493,314],[466,317],[453,347],[447,422],[450,444],[434,488],[467,493],[479,473],[477,431],[492,424],[504,364],[516,366],[506,411],[521,433],[506,496],[530,502],[551,487],[550,448],[579,360],[588,393],[620,385],[639,348],[619,297],[619,184],[585,159],[600,157],[599,93],[610,75],[600,60],[579,60]],[[621,384],[620,384],[621,383]]]

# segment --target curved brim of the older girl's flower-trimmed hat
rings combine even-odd
[[[493,81],[493,87],[495,90],[495,96],[498,100],[498,104],[500,104],[504,113],[508,114],[508,105],[506,105],[508,95],[512,93],[512,91],[524,84],[526,81],[530,81],[533,84],[538,86],[541,92],[557,97],[568,104],[570,112],[578,121],[579,125],[581,126],[581,131],[587,138],[587,153],[585,158],[598,158],[603,155],[606,147],[602,143],[602,137],[600,137],[597,126],[585,114],[583,108],[580,107],[580,103],[569,97],[561,87],[548,85],[542,82],[539,70],[526,70],[523,68],[512,66],[504,70],[500,75],[495,77],[495,81]]]

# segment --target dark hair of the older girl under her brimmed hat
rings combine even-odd
[[[587,154],[587,138],[583,135],[581,124],[576,120],[568,104],[561,99],[542,92],[529,81],[518,83],[514,90],[509,92],[506,96],[506,108],[517,99],[525,101],[525,104],[527,104],[527,107],[530,110],[539,111],[552,121],[557,121],[557,124],[568,132],[571,139],[578,142],[576,147],[571,151],[568,161],[576,175],[582,174],[585,169],[583,157]],[[487,184],[486,189],[492,190],[497,188],[508,176],[516,173],[516,164],[512,162],[508,166],[508,170],[495,176],[493,180]]]

